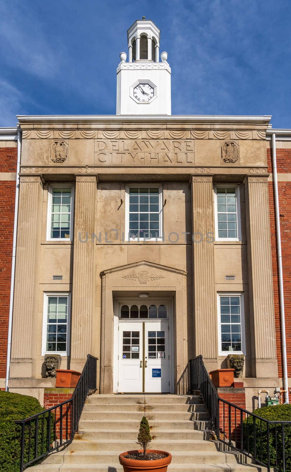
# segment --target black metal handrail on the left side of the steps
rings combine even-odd
[[[96,390],[97,361],[97,357],[87,355],[82,374],[69,400],[42,413],[15,421],[21,426],[20,460],[16,458],[20,472],[50,452],[73,441],[87,396],[90,391]]]

